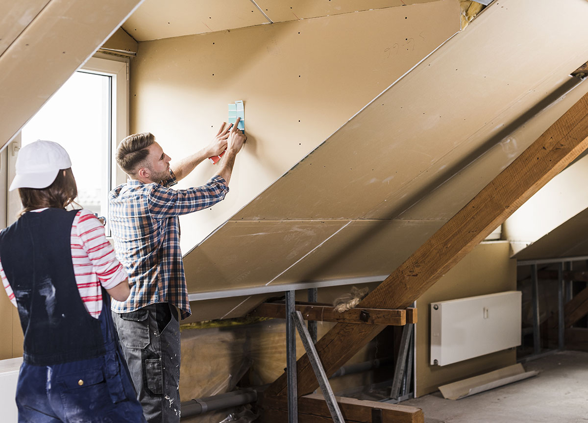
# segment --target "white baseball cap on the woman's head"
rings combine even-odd
[[[60,169],[71,166],[69,154],[61,145],[38,139],[18,151],[16,176],[9,191],[16,188],[47,188],[53,184]]]

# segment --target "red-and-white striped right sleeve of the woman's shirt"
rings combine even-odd
[[[102,223],[92,212],[88,210],[79,212],[76,229],[81,248],[88,255],[93,267],[88,269],[88,272],[96,274],[104,289],[113,288],[124,281],[128,275],[116,259],[114,249],[104,235]],[[76,272],[76,279],[78,275]]]

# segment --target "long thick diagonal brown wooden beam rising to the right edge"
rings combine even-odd
[[[362,302],[365,308],[406,308],[502,224],[588,146],[588,94],[550,126]],[[330,374],[373,339],[383,325],[338,323],[316,344]],[[318,386],[306,355],[298,360],[298,393]],[[285,374],[266,390],[284,395]]]

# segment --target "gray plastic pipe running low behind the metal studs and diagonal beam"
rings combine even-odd
[[[393,358],[380,358],[363,363],[349,364],[336,371],[329,379],[352,373],[359,373],[376,369],[390,364]],[[225,394],[214,395],[213,397],[191,399],[181,404],[182,418],[203,414],[209,411],[216,411],[223,408],[236,407],[238,405],[250,404],[258,399],[258,391],[263,391],[268,385],[256,388],[239,389],[239,391],[226,392]]]

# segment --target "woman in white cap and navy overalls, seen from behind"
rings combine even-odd
[[[17,188],[23,209],[0,232],[0,277],[24,332],[18,421],[145,422],[110,313],[110,295],[129,295],[127,275],[92,212],[65,210],[77,195],[65,149],[24,146]]]

